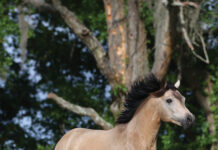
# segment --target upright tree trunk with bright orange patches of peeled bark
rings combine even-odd
[[[104,5],[108,32],[109,64],[114,71],[113,77],[116,84],[125,85],[125,60],[127,57],[127,23],[125,3],[124,0],[104,0]]]

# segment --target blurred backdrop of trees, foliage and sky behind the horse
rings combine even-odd
[[[131,83],[153,72],[181,80],[196,116],[188,130],[163,123],[157,149],[217,150],[217,6],[217,0],[1,0],[0,149],[50,150],[72,128],[111,128]]]

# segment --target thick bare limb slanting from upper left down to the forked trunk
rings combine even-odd
[[[91,31],[84,26],[76,15],[68,10],[65,6],[61,5],[59,0],[52,0],[54,8],[61,14],[66,24],[73,30],[73,32],[83,41],[83,43],[92,51],[98,68],[106,76],[109,81],[113,81],[113,71],[110,67],[109,60],[106,57],[106,52],[91,33]]]

